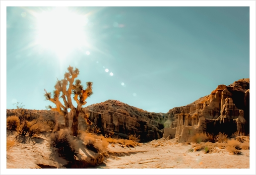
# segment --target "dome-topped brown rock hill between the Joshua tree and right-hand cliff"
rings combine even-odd
[[[163,136],[164,122],[168,115],[150,113],[117,100],[108,100],[84,108],[90,121],[101,128],[101,133],[114,130],[121,137],[140,135],[141,141],[159,139]]]

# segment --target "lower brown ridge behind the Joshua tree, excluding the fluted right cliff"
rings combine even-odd
[[[105,135],[111,130],[115,135],[128,138],[130,134],[140,135],[142,142],[159,139],[163,137],[164,122],[167,120],[166,113],[150,113],[117,100],[90,105],[83,108],[89,114],[89,120],[100,128],[100,134]],[[64,126],[64,117],[58,112],[48,110],[26,110],[22,112],[30,116],[30,119],[43,117],[44,120],[51,120],[56,126]],[[6,116],[16,115],[17,110],[6,110]],[[72,111],[68,118],[72,121]],[[86,130],[87,124],[82,115],[78,117],[78,129]],[[71,123],[69,123],[71,125]]]

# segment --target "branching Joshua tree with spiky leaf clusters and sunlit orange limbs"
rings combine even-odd
[[[73,133],[73,136],[77,136],[78,115],[80,112],[84,114],[84,117],[87,123],[91,124],[90,120],[88,119],[88,116],[82,110],[82,106],[87,103],[85,101],[87,97],[90,97],[92,95],[92,82],[87,82],[86,83],[87,87],[84,90],[83,85],[81,85],[81,81],[79,79],[76,79],[74,82],[74,79],[79,74],[78,68],[75,68],[75,70],[73,70],[73,67],[69,65],[67,70],[68,72],[65,72],[64,79],[62,80],[57,79],[57,82],[54,86],[55,90],[53,92],[54,94],[53,98],[52,98],[51,92],[47,92],[46,90],[45,90],[45,98],[46,100],[49,100],[56,105],[56,108],[52,108],[50,105],[48,106],[48,108],[51,109],[52,111],[57,111],[64,116],[65,127],[67,128],[69,127],[67,109],[69,108],[71,109],[71,111],[73,112],[73,122],[71,126],[71,131]],[[73,94],[74,96],[73,99],[77,103],[76,108],[72,104],[71,94]],[[59,101],[60,97],[63,99],[64,104],[62,104]]]

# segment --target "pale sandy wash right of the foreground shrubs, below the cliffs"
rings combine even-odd
[[[152,146],[158,145],[159,146]],[[203,150],[190,152],[192,145],[172,144],[174,140],[154,140],[136,148],[122,148],[137,152],[129,156],[107,159],[105,165],[97,168],[128,169],[249,169],[250,151],[241,155],[230,155],[225,149],[216,148],[215,153],[205,154]]]

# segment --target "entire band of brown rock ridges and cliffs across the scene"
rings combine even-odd
[[[187,141],[197,132],[228,135],[236,131],[249,133],[250,123],[250,79],[241,79],[233,84],[219,85],[210,95],[193,103],[176,107],[167,114],[150,113],[117,100],[108,100],[83,108],[93,125],[100,128],[101,134],[114,130],[115,135],[128,138],[130,134],[140,135],[142,142],[159,138],[178,138]],[[64,125],[64,117],[58,112],[47,110],[20,111],[30,119],[43,117],[51,120],[59,128]],[[17,110],[6,110],[12,116]],[[72,112],[68,114],[72,120]],[[78,129],[85,130],[84,117],[78,117]],[[71,124],[71,123],[69,123]]]

